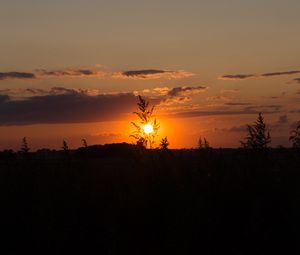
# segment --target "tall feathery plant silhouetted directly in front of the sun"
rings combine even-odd
[[[141,96],[138,96],[138,111],[133,112],[139,118],[138,122],[131,122],[134,126],[135,131],[130,135],[136,140],[138,146],[150,149],[153,148],[155,144],[155,138],[159,130],[159,124],[153,114],[154,106],[149,106],[149,101],[146,101]],[[150,126],[151,131],[146,132],[145,126]]]

